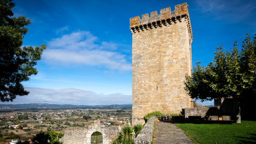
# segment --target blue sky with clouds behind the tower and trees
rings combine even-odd
[[[256,34],[256,1],[42,1],[16,0],[14,16],[31,19],[23,45],[46,44],[38,74],[13,102],[74,105],[132,103],[129,20],[187,2],[193,65],[206,66],[216,46],[241,47]],[[212,105],[205,102],[203,105]]]

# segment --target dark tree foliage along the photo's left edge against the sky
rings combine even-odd
[[[25,26],[30,20],[20,16],[14,18],[12,0],[0,1],[0,100],[13,101],[17,95],[27,95],[21,82],[29,81],[36,75],[36,61],[41,59],[46,46],[23,46],[23,35],[28,32]]]

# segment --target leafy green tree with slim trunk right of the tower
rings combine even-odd
[[[192,76],[186,76],[185,90],[193,99],[213,100],[233,97],[236,123],[241,123],[240,102],[247,95],[256,95],[256,36],[251,42],[249,35],[237,50],[235,42],[230,52],[217,47],[213,62],[207,67],[197,62]]]

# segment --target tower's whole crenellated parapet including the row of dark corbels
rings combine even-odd
[[[139,16],[130,18],[130,30],[131,33],[139,33],[144,30],[153,29],[157,27],[162,27],[166,25],[172,25],[172,23],[186,21],[189,37],[191,42],[193,41],[192,28],[188,13],[188,4],[183,3],[175,5],[175,10],[171,11],[170,7],[160,10],[160,14],[157,11],[150,12],[149,14],[143,14],[142,19]]]

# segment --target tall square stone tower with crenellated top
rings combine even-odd
[[[132,121],[153,111],[192,108],[185,75],[191,75],[193,41],[187,3],[130,18],[132,32]],[[134,123],[133,123],[134,124]]]

